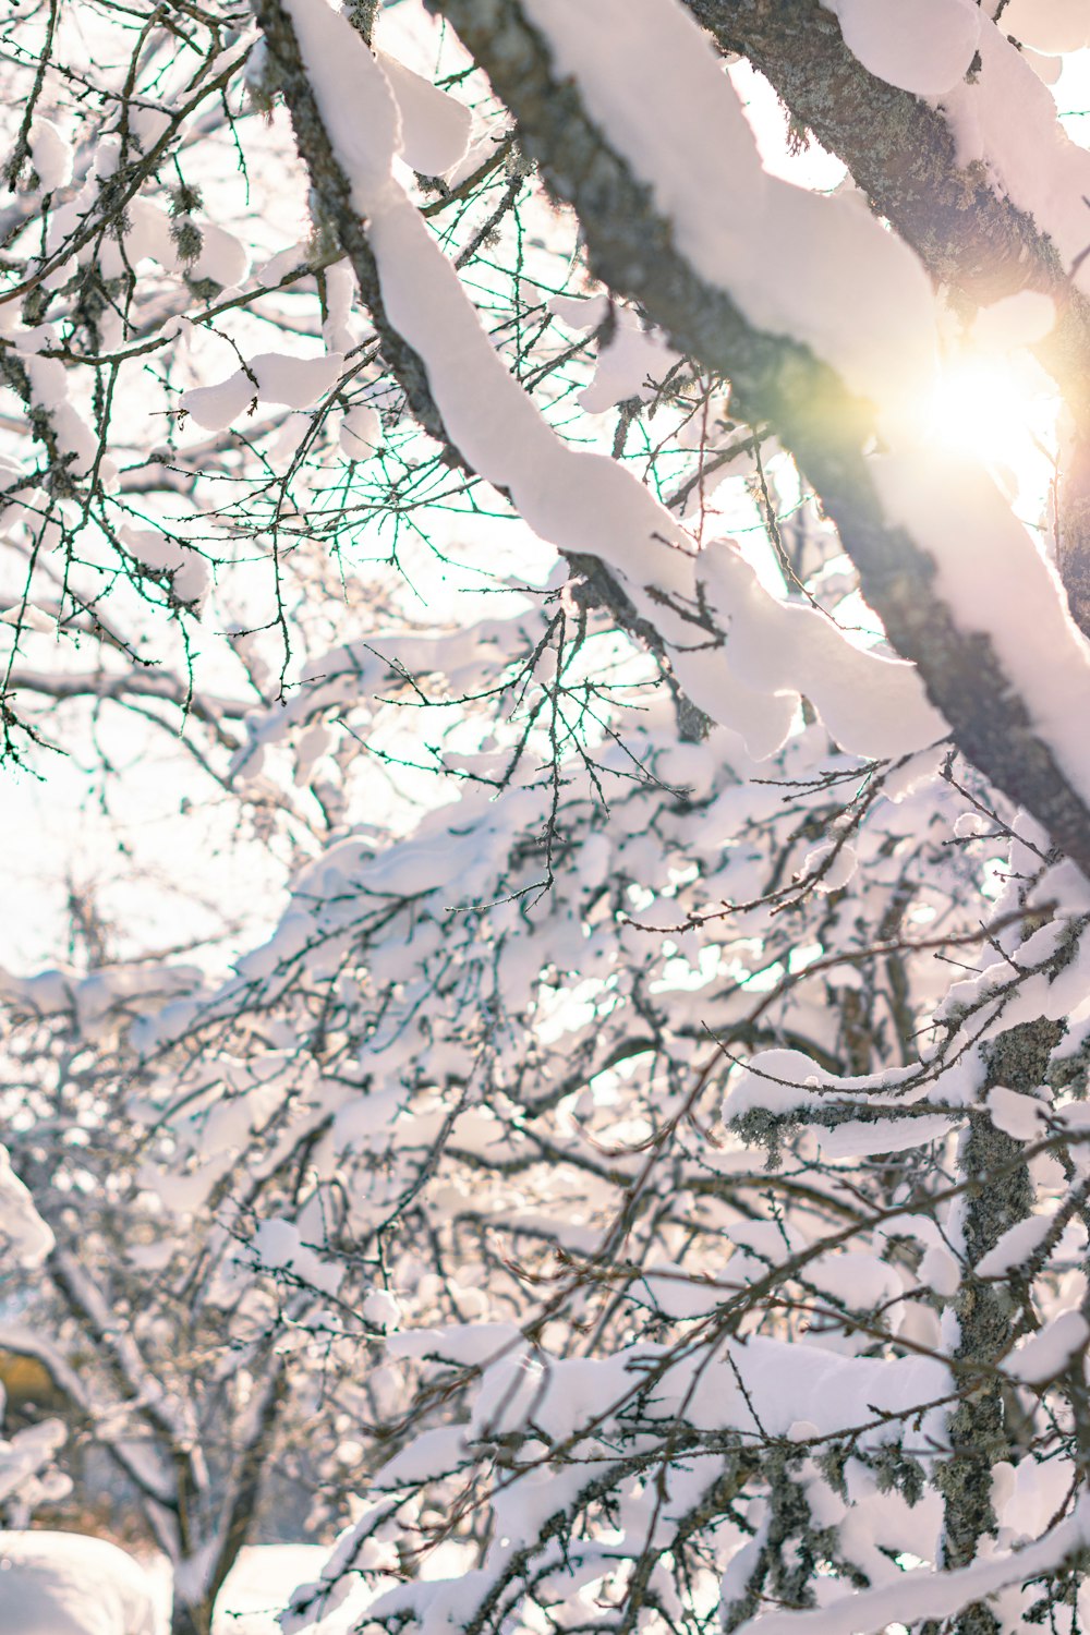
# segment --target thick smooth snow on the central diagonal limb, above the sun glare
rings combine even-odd
[[[920,262],[851,196],[807,193],[763,170],[737,92],[677,0],[528,0],[526,11],[559,74],[650,185],[693,268],[753,325],[812,347],[881,409],[918,405],[936,356]],[[667,141],[650,106],[670,108]]]

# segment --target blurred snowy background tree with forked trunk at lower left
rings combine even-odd
[[[8,1418],[21,1426],[8,1522],[25,1525],[34,1504],[47,1521],[51,1504],[70,1525],[157,1548],[173,1570],[180,1635],[212,1627],[247,1539],[338,1517],[320,1470],[338,1440],[337,1359],[307,1342],[315,1297],[337,1275],[299,1252],[284,1257],[281,1287],[257,1280],[226,1203],[247,1221],[260,1197],[270,1210],[289,1203],[312,1136],[281,1143],[261,1172],[221,1127],[214,1179],[194,1185],[157,1172],[173,1143],[131,1102],[127,1030],[198,976],[113,965],[82,981],[8,981],[2,1092],[10,1162],[42,1239],[33,1282],[15,1282],[0,1321]],[[206,1151],[214,1140],[206,1130]],[[276,1236],[257,1241],[271,1254]],[[38,1463],[52,1454],[60,1468],[38,1478],[36,1449]]]

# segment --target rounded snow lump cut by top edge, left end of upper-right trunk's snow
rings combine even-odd
[[[822,0],[868,74],[915,96],[964,78],[981,38],[972,0]]]

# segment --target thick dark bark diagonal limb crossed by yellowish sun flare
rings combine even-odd
[[[1036,734],[989,638],[958,628],[936,594],[931,558],[882,515],[863,456],[866,405],[806,347],[755,330],[721,289],[696,276],[650,190],[603,139],[574,85],[552,72],[547,46],[516,0],[441,0],[440,10],[511,110],[547,185],[577,211],[596,276],[641,301],[683,352],[727,374],[747,419],[776,428],[958,747],[1090,876],[1082,798]]]

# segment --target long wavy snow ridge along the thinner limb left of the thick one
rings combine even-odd
[[[943,736],[945,723],[905,665],[853,647],[809,608],[778,603],[729,544],[698,554],[631,473],[551,430],[391,172],[399,126],[381,65],[325,0],[257,0],[257,8],[278,31],[275,49],[294,52],[306,69],[299,108],[322,126],[338,195],[369,217],[366,253],[384,322],[425,370],[428,402],[466,464],[507,490],[543,540],[605,562],[637,616],[659,629],[686,695],[742,731],[755,754],[783,744],[799,693],[855,754],[905,754]],[[310,155],[302,116],[299,129]]]

